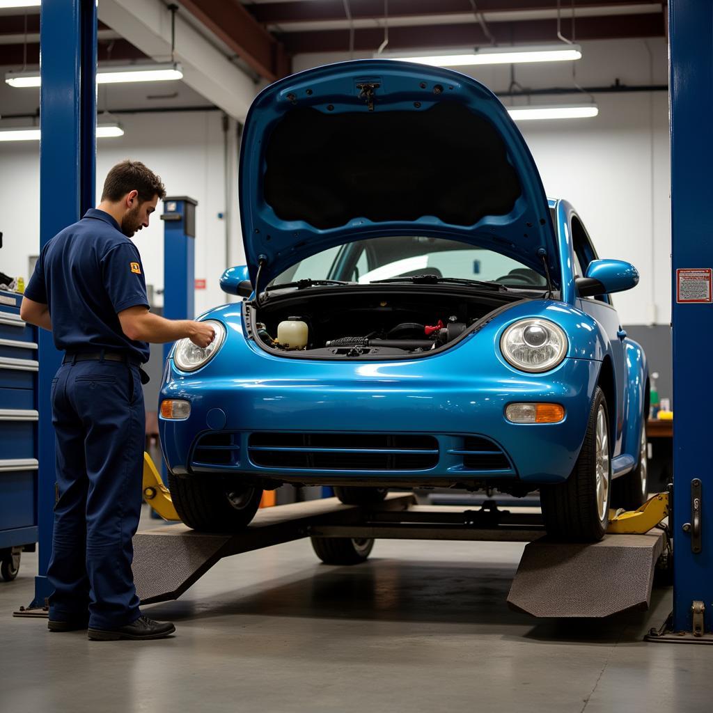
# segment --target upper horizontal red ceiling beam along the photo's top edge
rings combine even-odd
[[[651,0],[590,0],[578,2],[576,9],[615,9],[626,5],[649,4]],[[481,12],[511,12],[518,10],[555,10],[556,0],[478,0]],[[568,2],[562,3],[563,10],[570,9]],[[262,24],[287,24],[290,22],[317,22],[344,20],[344,0],[322,0],[321,2],[270,2],[246,6],[252,16]],[[382,17],[384,0],[351,0],[350,9],[354,19]],[[389,0],[389,17],[414,17],[424,15],[449,15],[472,13],[469,0]]]

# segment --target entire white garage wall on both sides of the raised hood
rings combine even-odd
[[[663,40],[591,42],[583,45],[578,81],[587,86],[666,83]],[[294,69],[346,56],[303,55]],[[532,88],[572,85],[571,63],[520,66],[516,78]],[[475,74],[475,72],[473,73]],[[510,81],[506,67],[478,72],[496,91]],[[571,102],[572,96],[554,101]],[[588,100],[588,97],[585,97]],[[580,212],[602,257],[630,260],[641,272],[638,287],[615,297],[625,324],[670,321],[670,162],[667,94],[595,96],[597,118],[521,123],[549,195],[567,198]],[[523,100],[518,100],[521,103]],[[533,101],[543,101],[539,98]],[[106,172],[123,158],[143,160],[170,194],[198,199],[196,312],[227,301],[217,280],[225,268],[223,145],[220,113],[144,114],[120,118],[125,136],[98,142],[98,195]],[[231,128],[230,135],[234,135]],[[235,160],[235,148],[231,149]],[[235,166],[233,167],[235,171]],[[61,180],[58,170],[57,180]],[[233,198],[235,190],[232,190]],[[39,150],[36,144],[0,144],[0,271],[24,275],[28,255],[39,249]],[[153,220],[138,235],[147,281],[163,287],[163,225]],[[244,260],[237,205],[230,222],[230,263]]]

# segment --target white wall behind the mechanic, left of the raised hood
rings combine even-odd
[[[125,134],[97,142],[97,201],[108,170],[124,158],[143,161],[163,179],[168,195],[198,200],[196,209],[195,277],[207,287],[195,292],[196,314],[227,302],[218,279],[225,270],[225,206],[223,134],[220,112],[135,114],[120,117]],[[235,172],[235,123],[229,136]],[[61,168],[57,180],[61,181]],[[234,184],[235,185],[235,184]],[[230,207],[231,262],[244,262],[237,196]],[[146,282],[163,289],[163,222],[159,202],[148,228],[135,235]],[[226,217],[217,217],[222,212]],[[0,143],[0,272],[26,275],[29,255],[39,252],[39,145]],[[163,304],[160,296],[155,304]]]

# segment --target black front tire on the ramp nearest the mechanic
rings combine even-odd
[[[176,512],[189,528],[203,532],[243,530],[260,507],[262,488],[235,486],[227,479],[168,474]]]

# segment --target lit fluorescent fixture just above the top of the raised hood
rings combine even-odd
[[[435,67],[464,67],[476,64],[515,64],[520,62],[562,62],[582,58],[582,48],[560,42],[554,45],[520,45],[509,47],[476,47],[476,49],[438,51],[429,55],[406,56],[382,53],[375,58],[400,59],[404,62]]]

